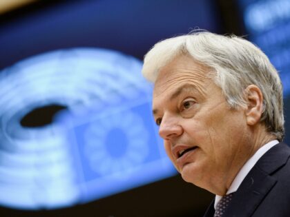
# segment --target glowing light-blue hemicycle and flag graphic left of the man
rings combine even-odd
[[[75,48],[3,70],[0,204],[65,207],[175,174],[141,68],[113,50]]]

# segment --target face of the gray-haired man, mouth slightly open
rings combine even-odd
[[[229,107],[209,71],[186,55],[164,66],[155,82],[153,114],[182,178],[224,194],[251,153],[249,127],[244,109]]]

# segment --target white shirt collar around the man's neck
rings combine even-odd
[[[269,149],[271,149],[271,147],[273,147],[274,145],[277,145],[278,143],[279,143],[278,140],[273,140],[273,141],[267,143],[266,145],[263,145],[262,147],[260,147],[260,149],[258,149],[258,151],[255,152],[255,154],[251,158],[249,158],[249,160],[244,164],[242,169],[240,169],[240,172],[238,172],[237,176],[235,176],[235,179],[233,180],[233,183],[231,183],[231,186],[229,187],[229,190],[226,192],[226,194],[231,194],[233,192],[236,192],[238,190],[238,188],[240,187],[244,178],[247,176],[247,174],[249,174],[250,170],[255,165],[255,163],[257,163],[257,161],[259,161],[259,159],[267,151],[269,151]],[[218,202],[220,201],[221,198],[222,198],[222,196],[215,195],[215,209],[216,209]]]

